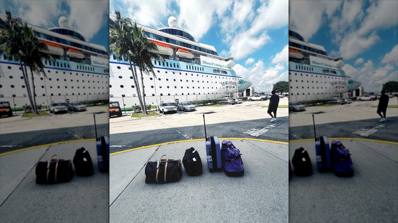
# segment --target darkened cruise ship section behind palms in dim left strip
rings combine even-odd
[[[48,30],[28,24],[54,58],[43,60],[47,78],[43,73],[34,74],[37,104],[109,99],[107,48],[87,42],[83,35],[68,27],[66,17],[61,16],[58,22],[59,27]],[[28,76],[31,77],[29,68]],[[31,78],[29,81],[32,85]],[[30,105],[19,61],[5,53],[0,55],[0,100],[9,101],[16,109]]]

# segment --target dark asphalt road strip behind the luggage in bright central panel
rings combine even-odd
[[[259,138],[288,142],[288,118],[282,117],[276,123],[270,119],[218,123],[206,125],[207,135],[221,138]],[[110,153],[174,141],[205,138],[203,125],[146,130],[110,135]]]

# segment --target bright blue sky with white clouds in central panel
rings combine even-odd
[[[153,28],[176,17],[180,29],[185,23],[197,42],[213,45],[222,57],[232,56],[233,69],[256,91],[288,80],[287,0],[111,0],[109,12],[115,9]]]

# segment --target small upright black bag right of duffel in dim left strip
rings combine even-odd
[[[93,174],[92,160],[84,147],[76,150],[73,157],[73,165],[78,176],[91,176]]]

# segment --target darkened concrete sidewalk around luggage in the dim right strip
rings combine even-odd
[[[305,148],[313,174],[289,181],[289,222],[398,222],[398,143],[361,138],[340,140],[352,154],[354,176],[319,173],[315,142],[290,141],[294,150]]]

